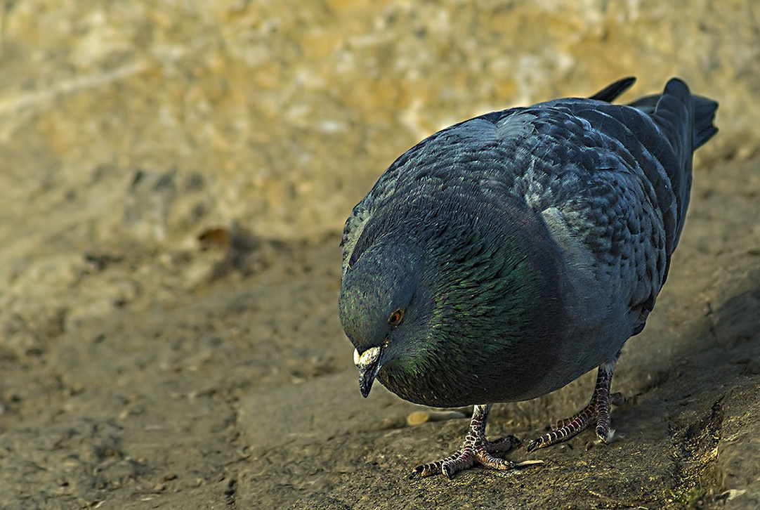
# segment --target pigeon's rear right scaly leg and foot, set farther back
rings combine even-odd
[[[596,433],[600,442],[610,442],[615,433],[613,429],[610,429],[610,405],[625,404],[625,397],[622,393],[610,394],[614,372],[614,362],[600,366],[597,375],[597,387],[594,389],[594,394],[591,396],[588,405],[575,416],[567,420],[559,420],[556,426],[552,427],[552,432],[529,442],[527,451],[534,451],[570,439],[578,432],[587,429],[592,423],[597,425]]]

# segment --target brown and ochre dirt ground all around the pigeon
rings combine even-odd
[[[0,9],[0,508],[760,508],[760,8],[107,2]],[[340,232],[493,109],[685,78],[720,101],[686,229],[591,432],[409,478],[467,409],[359,394]],[[593,374],[497,404],[532,439]],[[471,410],[469,410],[471,411]]]

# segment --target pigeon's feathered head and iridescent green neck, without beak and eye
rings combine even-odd
[[[488,198],[422,196],[368,224],[357,243],[341,321],[359,352],[384,346],[378,379],[402,398],[440,407],[531,398],[524,382],[553,363],[532,350],[562,325],[559,251],[518,199]],[[399,307],[404,320],[391,327]]]

